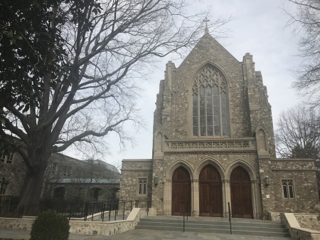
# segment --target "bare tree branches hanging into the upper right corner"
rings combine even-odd
[[[302,68],[295,71],[294,88],[307,93],[312,102],[320,103],[320,1],[289,0],[297,11],[289,13],[289,24],[294,26],[299,38],[299,51],[304,58]]]

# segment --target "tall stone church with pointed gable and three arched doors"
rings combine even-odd
[[[120,199],[159,215],[267,219],[319,212],[314,160],[277,159],[271,105],[250,53],[238,61],[208,33],[169,61],[154,111],[152,159],[123,160]]]

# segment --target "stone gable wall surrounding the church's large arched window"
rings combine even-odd
[[[193,51],[174,70],[171,90],[171,114],[163,121],[165,132],[171,139],[186,139],[192,136],[192,85],[194,75],[205,63],[214,63],[228,79],[230,137],[247,137],[248,125],[245,115],[243,76],[241,63],[210,35],[203,36]],[[251,137],[251,136],[250,136]]]

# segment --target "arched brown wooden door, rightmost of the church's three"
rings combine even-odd
[[[230,175],[231,212],[233,217],[252,219],[251,181],[242,167],[233,169]]]

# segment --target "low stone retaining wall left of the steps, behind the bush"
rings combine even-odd
[[[134,208],[122,221],[70,221],[70,233],[82,235],[113,235],[132,230],[141,217],[146,216],[146,209]],[[31,231],[34,219],[0,218],[0,229]]]

